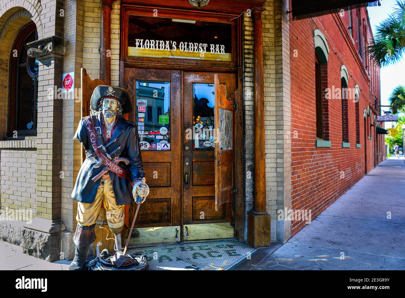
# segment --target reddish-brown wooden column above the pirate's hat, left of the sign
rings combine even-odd
[[[101,7],[100,79],[107,85],[111,84],[111,2],[103,0]]]

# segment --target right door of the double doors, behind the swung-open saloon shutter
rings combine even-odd
[[[219,80],[229,89],[229,94],[234,92],[235,76],[232,74],[219,74]],[[183,155],[188,158],[192,169],[192,181],[188,189],[183,187],[183,225],[184,234],[190,231],[198,231],[200,235],[187,236],[185,240],[208,239],[212,235],[218,236],[219,226],[213,223],[229,223],[234,221],[231,204],[233,204],[231,193],[233,189],[233,158],[225,158],[231,161],[221,168],[224,175],[222,184],[228,183],[229,192],[222,192],[221,197],[226,198],[230,204],[221,204],[215,208],[215,119],[217,117],[215,107],[215,75],[209,72],[184,72],[183,73]],[[191,133],[188,133],[191,132]],[[232,128],[233,132],[233,128]],[[232,151],[232,150],[230,150]],[[227,172],[230,171],[230,172]],[[228,197],[226,197],[228,195]],[[213,229],[202,232],[196,228],[196,224],[206,225],[206,229]],[[220,225],[221,226],[221,225]],[[187,229],[186,229],[187,227]],[[225,226],[224,226],[225,227]],[[226,236],[229,236],[229,225],[223,229]],[[190,230],[189,230],[190,228]],[[215,232],[216,231],[216,232]],[[224,235],[225,235],[224,234]]]

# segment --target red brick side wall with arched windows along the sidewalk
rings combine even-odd
[[[360,9],[360,19],[366,19],[367,11]],[[375,155],[375,127],[369,130],[371,139],[364,139],[363,111],[369,105],[375,105],[374,97],[379,100],[379,68],[368,67],[363,61],[364,55],[358,51],[357,11],[352,11],[353,39],[349,35],[349,16],[346,11],[340,14],[325,15],[300,21],[290,21],[291,50],[291,151],[292,151],[292,209],[311,209],[312,219],[319,215],[344,194],[347,189],[359,181],[365,173],[364,150],[367,142],[367,172],[374,168],[375,156],[385,156],[384,139],[379,137],[378,152]],[[368,22],[362,26],[360,38],[367,35],[370,40],[371,30]],[[348,126],[350,148],[342,148],[342,101],[329,99],[324,103],[328,107],[326,138],[331,141],[330,148],[316,148],[316,114],[315,114],[315,48],[313,30],[319,29],[325,36],[328,47],[327,82],[322,77],[322,85],[329,88],[341,88],[341,65],[349,72],[348,88],[358,84],[360,99],[360,144],[356,148],[356,104],[352,98],[348,100]],[[363,32],[366,31],[366,32]],[[372,37],[371,37],[372,38]],[[362,41],[364,45],[367,41]],[[297,50],[297,51],[295,51]],[[362,59],[360,59],[362,57]],[[368,62],[370,64],[370,62]],[[366,71],[370,71],[370,74]],[[373,78],[371,80],[371,78]],[[370,83],[371,82],[371,83]],[[373,91],[370,99],[369,87]],[[324,86],[322,86],[324,88]],[[325,99],[324,99],[325,100]],[[379,104],[379,103],[378,103]],[[368,121],[373,120],[368,117]],[[378,125],[378,123],[377,123]],[[379,126],[382,126],[381,124]],[[343,177],[344,173],[344,177]],[[292,221],[292,235],[305,226],[304,221]]]

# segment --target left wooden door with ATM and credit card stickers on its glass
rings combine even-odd
[[[178,179],[181,176],[181,122],[171,120],[181,118],[180,72],[126,68],[125,76],[134,104],[130,120],[139,130],[143,169],[150,189],[135,222],[140,234],[132,237],[134,241],[131,239],[131,243],[145,243],[142,238],[164,242],[147,235],[152,230],[140,229],[142,227],[172,226],[173,229],[166,229],[165,233],[173,234],[171,238],[174,240],[175,228],[179,229],[181,223],[181,181]],[[170,147],[163,150],[163,144]],[[133,210],[134,204],[129,222],[132,222]]]

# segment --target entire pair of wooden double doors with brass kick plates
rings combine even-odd
[[[236,75],[126,68],[125,81],[150,187],[130,243],[233,237]]]

